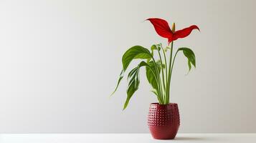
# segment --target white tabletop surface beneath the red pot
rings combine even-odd
[[[256,142],[256,134],[177,134],[173,140],[156,140],[150,134],[0,134],[1,143],[157,143]]]

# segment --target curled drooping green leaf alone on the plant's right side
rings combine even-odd
[[[186,56],[186,58],[188,59],[189,71],[191,70],[191,64],[196,68],[196,56],[194,55],[194,52],[191,49],[181,47],[178,49],[178,51],[183,51],[184,56]]]

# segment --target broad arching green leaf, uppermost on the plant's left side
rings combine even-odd
[[[133,46],[123,54],[123,70],[125,71],[133,59],[149,59],[151,52],[143,46]]]

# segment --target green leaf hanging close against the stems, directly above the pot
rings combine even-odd
[[[156,67],[158,68],[158,70],[156,70]],[[149,84],[151,84],[151,86],[153,87],[154,91],[158,91],[158,84],[157,84],[158,80],[156,79],[155,76],[160,74],[160,70],[161,70],[161,62],[160,61],[156,61],[156,66],[153,63],[153,61],[149,61],[148,66],[146,66],[146,77],[148,79]],[[157,92],[155,94],[158,95]]]

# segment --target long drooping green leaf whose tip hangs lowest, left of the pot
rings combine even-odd
[[[128,89],[126,91],[127,98],[125,104],[123,105],[123,110],[128,106],[128,103],[133,96],[133,94],[138,90],[138,85],[140,84],[139,71],[141,66],[148,66],[145,61],[141,61],[138,66],[132,69],[128,74]]]

